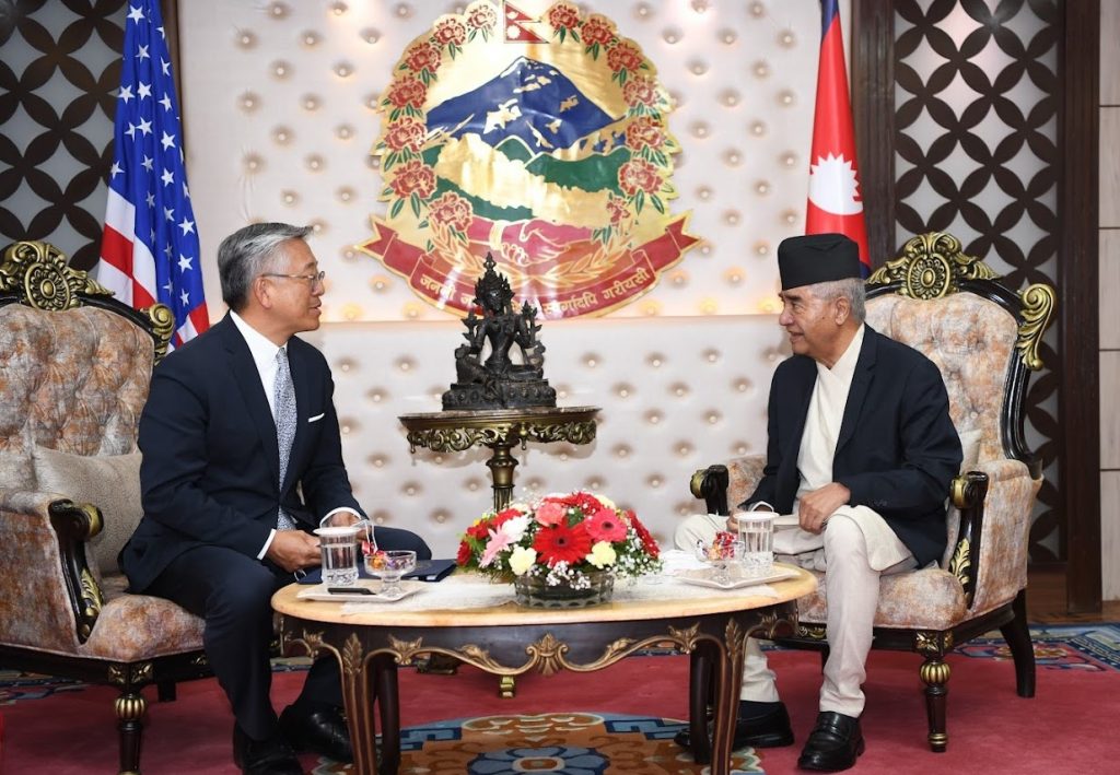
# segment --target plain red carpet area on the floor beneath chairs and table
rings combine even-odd
[[[862,721],[867,753],[855,772],[886,775],[1029,771],[1083,775],[1111,771],[1120,755],[1120,738],[1114,729],[1120,718],[1120,672],[1116,665],[1091,656],[1073,652],[1055,654],[1054,650],[1053,645],[1039,644],[1039,656],[1049,656],[1051,664],[1046,660],[1040,663],[1038,691],[1032,700],[1015,694],[1010,662],[992,659],[983,648],[968,655],[952,655],[950,743],[945,754],[933,754],[926,747],[917,657],[872,653]],[[758,751],[760,768],[772,774],[790,773],[795,771],[800,744],[815,717],[820,662],[814,653],[776,652],[772,664],[777,670],[799,745]],[[463,670],[458,676],[418,675],[403,670],[402,723],[409,727],[441,719],[548,711],[683,719],[687,672],[687,657],[633,657],[587,675],[523,676],[519,680],[517,697],[502,700],[496,697],[496,679],[474,670]],[[273,699],[278,707],[296,694],[301,681],[299,672],[277,673]],[[13,775],[116,772],[111,690],[71,687],[13,692],[10,683],[4,687],[0,690],[4,726],[0,772]],[[36,691],[49,695],[31,699]],[[152,702],[149,708],[142,754],[144,772],[236,773],[230,756],[231,718],[213,680],[180,684],[177,701]],[[302,762],[308,769],[320,765],[314,756],[305,756]],[[320,772],[327,771],[344,772],[336,767]],[[633,763],[625,771],[665,772],[652,764],[645,769],[641,765],[635,768]],[[436,767],[427,772],[450,775],[454,771]],[[623,769],[612,765],[605,772]]]

